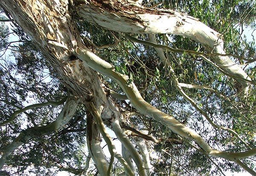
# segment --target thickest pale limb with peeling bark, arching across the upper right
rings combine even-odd
[[[120,8],[119,2],[126,5]],[[113,31],[181,35],[201,43],[209,54],[226,54],[221,34],[189,15],[173,10],[145,9],[130,0],[112,1],[112,9],[107,7],[108,3],[106,2],[92,1],[90,4],[80,6],[79,14],[84,19]],[[251,80],[250,77],[230,57],[215,56],[212,58],[228,74],[238,77],[237,81],[242,86],[241,96],[245,97],[249,90],[249,84],[239,78]]]

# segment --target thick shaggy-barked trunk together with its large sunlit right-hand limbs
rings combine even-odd
[[[0,6],[28,34],[55,68],[59,79],[74,96],[79,97],[84,105],[88,105],[88,102],[93,103],[102,118],[111,119],[114,116],[111,123],[113,130],[125,148],[131,152],[131,157],[134,159],[140,175],[145,175],[145,166],[128,137],[122,133],[119,125],[119,116],[122,115],[113,100],[106,96],[96,71],[116,81],[133,103],[134,108],[141,114],[151,116],[178,135],[194,140],[206,153],[233,161],[239,161],[239,159],[256,153],[255,149],[244,153],[214,150],[198,133],[145,102],[134,83],[128,82],[124,75],[115,71],[113,65],[97,57],[81,43],[80,34],[74,22],[74,17],[77,14],[74,13],[79,13],[80,17],[114,31],[183,35],[200,42],[210,53],[225,54],[219,34],[198,20],[176,11],[145,9],[137,3],[126,0],[1,0]],[[70,61],[70,56],[76,56],[80,60]],[[216,55],[214,60],[228,74],[236,76],[243,86],[243,94],[246,94],[248,84],[245,79],[250,80],[250,78],[244,71],[236,65],[233,66],[234,63],[229,57]],[[87,108],[87,111],[92,113],[90,107],[87,106]],[[90,122],[93,124],[93,120]],[[90,155],[97,167],[102,168],[103,174],[106,170],[108,171],[108,163],[100,150],[99,140],[96,139],[99,134],[94,133],[95,131],[96,126],[94,125],[88,131],[90,136],[88,136],[87,142]],[[91,135],[93,133],[94,135]],[[91,145],[97,146],[101,159],[95,157],[97,152],[92,150]]]

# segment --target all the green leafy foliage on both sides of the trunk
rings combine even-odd
[[[162,1],[144,0],[143,5],[150,7]],[[158,7],[175,9],[200,19],[215,31],[220,32],[225,39],[224,46],[227,53],[232,54],[232,60],[243,64],[247,74],[255,80],[256,76],[256,48],[255,41],[246,35],[245,28],[256,29],[256,9],[254,2],[239,0],[220,1],[179,1],[165,0]],[[248,10],[249,9],[249,10]],[[0,17],[1,18],[1,17]],[[172,114],[175,119],[183,122],[197,131],[209,144],[221,150],[240,152],[247,148],[241,140],[217,128],[213,128],[199,111],[189,103],[176,89],[174,74],[164,68],[157,52],[153,47],[135,43],[125,36],[103,29],[87,21],[78,21],[79,31],[87,37],[95,53],[102,59],[115,65],[115,71],[126,75],[140,90],[143,98],[154,107],[166,114]],[[250,31],[251,31],[250,30]],[[17,28],[15,32],[17,33]],[[0,49],[8,48],[9,31],[2,23],[0,25]],[[20,42],[15,45],[12,54],[3,55],[0,60],[0,123],[8,119],[14,111],[24,108],[33,102],[58,101],[67,96],[68,90],[58,80],[55,71],[46,58],[37,51],[27,37],[20,32]],[[134,34],[141,40],[149,40],[147,34]],[[206,52],[201,44],[190,39],[158,34],[157,42],[170,45],[173,48]],[[113,48],[101,48],[119,39]],[[232,128],[251,147],[255,147],[256,105],[255,85],[251,85],[249,96],[241,100],[238,95],[239,87],[234,79],[217,71],[202,58],[184,53],[165,51],[179,82],[204,85],[214,89],[185,89],[184,91],[196,104],[218,125]],[[122,94],[122,89],[116,82],[102,76],[104,84]],[[222,96],[220,96],[222,95]],[[132,111],[129,101],[116,99],[116,105],[124,111]],[[36,108],[19,114],[15,120],[1,126],[0,152],[10,144],[17,135],[26,128],[47,125],[53,122],[62,106]],[[85,166],[84,149],[86,137],[86,112],[80,105],[73,119],[58,132],[31,140],[28,144],[13,153],[6,165],[18,170],[1,171],[1,174],[27,174],[33,172],[41,175],[51,175],[51,168],[64,167],[83,169]],[[154,172],[158,175],[220,175],[220,170],[231,172],[241,171],[241,168],[229,161],[219,161],[216,158],[192,148],[192,141],[186,141],[169,131],[168,128],[153,121],[143,114],[132,116],[129,124],[138,130],[147,130],[156,139],[177,139],[182,144],[157,143],[153,146],[158,160],[154,160]],[[17,162],[18,161],[18,162]],[[253,168],[255,157],[247,161]],[[213,163],[217,163],[214,165]],[[32,166],[32,167],[31,167]],[[119,162],[115,161],[113,172],[123,171]],[[29,170],[29,171],[27,171]],[[25,172],[26,171],[26,172]]]

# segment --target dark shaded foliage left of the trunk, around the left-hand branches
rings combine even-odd
[[[7,26],[1,26],[2,36],[8,36]],[[2,40],[8,43],[8,40]],[[10,118],[12,113],[34,103],[59,101],[67,96],[67,88],[59,82],[56,74],[45,58],[31,42],[13,46],[16,48],[0,60],[0,122]],[[0,151],[10,144],[26,128],[47,125],[53,122],[62,107],[47,106],[34,108],[0,127]],[[56,133],[33,139],[10,156],[7,165],[12,167],[1,175],[27,175],[35,173],[52,175],[52,167],[81,165],[83,159],[75,151],[84,144],[86,122],[84,108],[79,107],[73,119]],[[17,162],[19,161],[19,162]],[[68,161],[68,162],[67,162]]]

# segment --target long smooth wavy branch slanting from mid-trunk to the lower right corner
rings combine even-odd
[[[139,111],[141,114],[151,116],[158,122],[166,125],[174,133],[177,133],[178,135],[187,139],[194,140],[201,148],[206,151],[206,153],[212,156],[235,160],[235,155],[233,155],[233,153],[219,151],[211,148],[198,133],[178,122],[173,116],[165,114],[145,102],[133,82],[129,82],[125,75],[115,71],[113,65],[97,57],[90,50],[84,48],[82,44],[80,44],[79,48],[77,48],[77,55],[80,60],[84,61],[91,68],[116,81],[121,86],[137,111]]]

